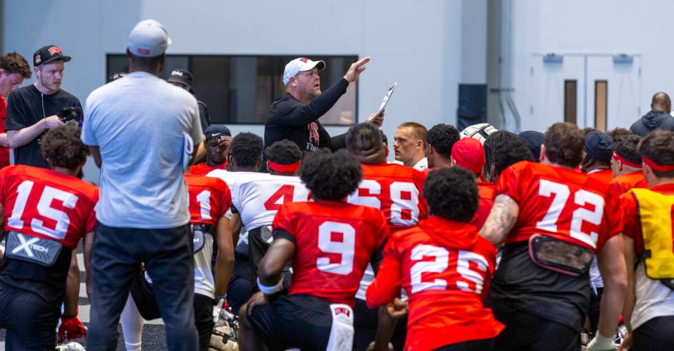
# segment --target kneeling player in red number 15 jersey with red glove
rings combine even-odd
[[[89,153],[80,129],[52,129],[43,137],[41,151],[50,170],[8,166],[0,171],[7,240],[0,270],[0,328],[7,328],[8,350],[54,350],[68,270],[76,262],[73,251],[86,234],[91,244],[96,224],[98,188],[76,177]],[[84,246],[85,257],[89,247]],[[61,318],[67,337],[85,331],[76,316]]]

